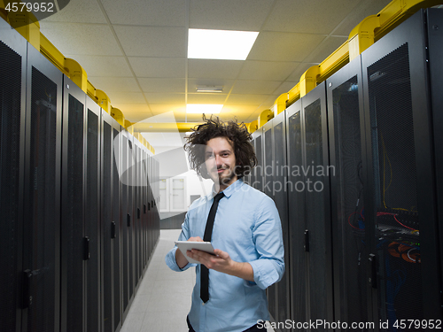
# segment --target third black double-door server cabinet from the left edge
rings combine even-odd
[[[102,325],[104,331],[121,328],[121,269],[120,269],[120,125],[101,110],[101,289]]]

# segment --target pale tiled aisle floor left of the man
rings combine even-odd
[[[160,231],[159,243],[121,332],[188,332],[186,315],[190,310],[195,269],[177,273],[165,263],[165,255],[178,235],[179,229]]]

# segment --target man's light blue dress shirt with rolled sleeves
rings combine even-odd
[[[282,225],[274,201],[243,180],[223,190],[215,214],[212,243],[237,262],[253,266],[254,282],[209,270],[209,300],[200,299],[200,265],[180,269],[175,261],[175,246],[165,258],[174,271],[196,267],[196,284],[192,292],[189,319],[196,332],[241,332],[269,320],[266,288],[282,279],[284,244]],[[205,235],[206,220],[214,194],[201,197],[190,205],[182,224],[180,241]]]

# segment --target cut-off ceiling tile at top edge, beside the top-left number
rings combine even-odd
[[[96,1],[74,0],[69,1],[65,8],[43,21],[52,22],[74,22],[74,23],[106,23],[105,16],[102,14]],[[42,23],[42,20],[40,20]]]

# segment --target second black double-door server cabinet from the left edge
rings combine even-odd
[[[99,330],[100,108],[66,76],[63,85],[61,324]]]

